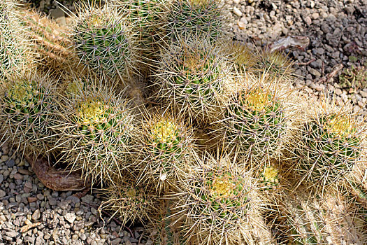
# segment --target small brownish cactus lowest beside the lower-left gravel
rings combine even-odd
[[[147,188],[135,186],[132,180],[116,177],[108,188],[101,190],[101,194],[106,200],[102,202],[101,209],[113,211],[113,217],[119,218],[122,225],[127,222],[145,223],[157,213],[157,197]]]

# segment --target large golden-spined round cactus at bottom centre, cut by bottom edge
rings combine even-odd
[[[220,158],[220,157],[219,157]],[[189,244],[240,244],[249,240],[259,196],[250,172],[240,172],[229,156],[205,155],[182,181],[178,216]]]

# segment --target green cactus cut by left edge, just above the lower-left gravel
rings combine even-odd
[[[45,155],[51,148],[56,104],[47,78],[19,78],[7,84],[1,95],[1,132],[17,148]],[[23,149],[20,149],[23,151]]]

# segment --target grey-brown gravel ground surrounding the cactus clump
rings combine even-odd
[[[73,2],[32,0],[65,25],[60,6],[75,11]],[[294,86],[309,96],[335,94],[367,115],[367,1],[365,0],[229,0],[230,29],[236,39],[257,47],[286,36],[305,36],[310,44],[285,52],[294,59]],[[342,64],[343,66],[340,66]],[[354,68],[354,73],[346,69]],[[355,71],[357,70],[357,71]],[[344,78],[344,79],[343,79]],[[348,83],[352,81],[352,84]],[[92,194],[92,195],[89,195]],[[27,161],[6,145],[0,148],[0,245],[2,244],[152,244],[142,228],[121,228],[108,214],[99,214],[98,193],[78,198],[75,192],[45,188]]]

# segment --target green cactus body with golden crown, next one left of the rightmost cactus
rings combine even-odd
[[[225,139],[240,152],[256,158],[273,156],[282,147],[287,120],[282,100],[276,94],[255,87],[240,92],[226,109]]]

